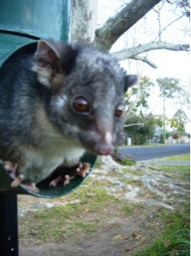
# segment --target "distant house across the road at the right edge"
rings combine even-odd
[[[189,143],[189,134],[180,131],[180,130],[173,130],[170,132],[169,137],[165,140],[166,143]]]

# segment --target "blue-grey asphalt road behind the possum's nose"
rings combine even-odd
[[[168,157],[190,152],[189,143],[173,144],[171,146],[130,147],[120,148],[118,152],[134,157],[135,161],[149,160],[158,157]]]

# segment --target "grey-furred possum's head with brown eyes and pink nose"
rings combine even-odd
[[[137,82],[111,55],[89,46],[40,40],[33,71],[50,90],[50,120],[63,135],[111,155],[123,126],[124,93]]]

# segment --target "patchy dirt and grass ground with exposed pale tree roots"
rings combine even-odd
[[[183,176],[181,168],[175,172],[145,164],[120,166],[111,157],[102,157],[83,188],[69,196],[20,196],[20,256],[133,255],[163,232],[163,210],[181,210],[187,201],[189,180]],[[100,186],[112,197],[102,194],[93,201]],[[50,235],[40,236],[45,217],[35,214],[64,205],[74,205],[71,210],[78,214],[71,212],[58,224],[54,212],[47,224]]]

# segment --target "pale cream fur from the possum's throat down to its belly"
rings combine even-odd
[[[37,147],[20,146],[25,157],[25,166],[20,170],[20,174],[24,175],[25,180],[35,183],[46,179],[63,163],[67,163],[67,166],[76,164],[85,152],[78,140],[65,139],[64,135],[59,133],[41,106],[37,108],[37,119],[36,130],[33,130],[34,134],[39,134]]]

